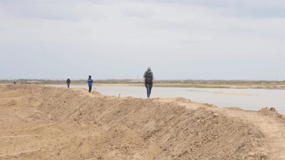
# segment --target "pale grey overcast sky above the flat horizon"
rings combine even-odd
[[[0,79],[285,80],[284,0],[0,0]]]

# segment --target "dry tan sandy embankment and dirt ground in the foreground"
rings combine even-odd
[[[0,85],[0,159],[285,159],[285,118],[180,97]]]

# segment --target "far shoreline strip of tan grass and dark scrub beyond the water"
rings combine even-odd
[[[0,84],[14,84],[14,81],[0,80]],[[66,85],[66,80],[19,79],[17,84]],[[87,85],[87,82],[71,80],[71,85]],[[94,80],[93,85],[145,87],[143,80]],[[262,80],[156,80],[153,85],[154,87],[285,90],[285,81]]]

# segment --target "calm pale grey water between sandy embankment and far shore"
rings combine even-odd
[[[49,85],[67,87],[67,85]],[[87,85],[71,85],[71,88]],[[145,87],[130,86],[95,86],[103,95],[120,97],[147,97]],[[152,87],[150,97],[184,97],[192,102],[214,104],[218,107],[240,107],[244,110],[261,110],[274,107],[279,113],[285,114],[285,90],[261,89],[225,89],[225,88],[187,88],[187,87]]]

